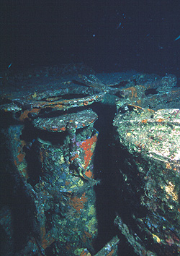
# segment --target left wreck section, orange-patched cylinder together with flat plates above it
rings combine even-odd
[[[104,93],[77,86],[33,89],[1,95],[15,175],[34,208],[32,234],[17,255],[45,255],[47,248],[54,255],[80,255],[84,248],[94,253],[98,132],[93,124],[98,116],[88,106],[102,101]]]

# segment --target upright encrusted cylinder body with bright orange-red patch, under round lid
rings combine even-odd
[[[89,114],[94,117],[92,111]],[[50,195],[43,205],[45,223],[41,227],[44,232],[41,240],[43,245],[45,234],[52,234],[49,237],[55,240],[52,245],[55,255],[80,255],[84,248],[94,253],[92,242],[97,236],[93,155],[98,132],[90,116],[87,123],[90,125],[82,124],[84,128],[77,130],[78,115],[81,113],[76,114],[76,122],[66,116],[65,132],[44,131],[47,135],[44,136],[41,130],[35,142],[41,168],[35,191]],[[39,129],[40,120],[36,124]],[[45,129],[45,122],[43,125]]]

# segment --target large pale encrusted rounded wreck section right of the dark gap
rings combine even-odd
[[[124,163],[119,166],[120,198],[132,206],[127,215],[133,224],[125,232],[127,225],[119,217],[116,223],[138,255],[148,255],[149,248],[150,255],[180,253],[179,113],[179,109],[128,106],[114,119],[116,157]]]

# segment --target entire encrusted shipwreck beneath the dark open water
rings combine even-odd
[[[133,255],[180,255],[176,82],[172,74],[96,74],[84,65],[6,74],[0,106],[1,254],[117,256],[131,247]],[[98,130],[99,119],[110,121],[102,127],[100,122]],[[96,187],[109,194],[112,188],[96,170],[96,155],[106,163],[96,144],[106,129],[114,232],[101,249],[96,241],[104,209],[97,213]],[[108,199],[103,201],[108,208]]]

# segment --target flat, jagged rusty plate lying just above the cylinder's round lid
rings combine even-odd
[[[12,112],[20,121],[37,116],[40,111],[47,108],[46,112],[65,111],[69,108],[89,106],[94,102],[102,101],[104,93],[97,93],[91,88],[65,88],[57,90],[45,90],[43,93],[24,92],[1,95],[1,100],[6,102],[1,105],[1,111]],[[95,94],[94,94],[95,93]],[[9,103],[11,101],[12,103]]]

